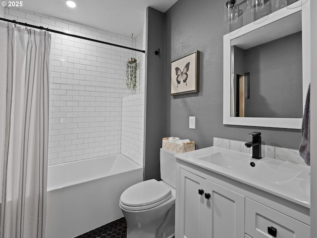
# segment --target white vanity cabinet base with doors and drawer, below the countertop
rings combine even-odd
[[[309,208],[180,159],[176,176],[175,238],[310,238]]]

